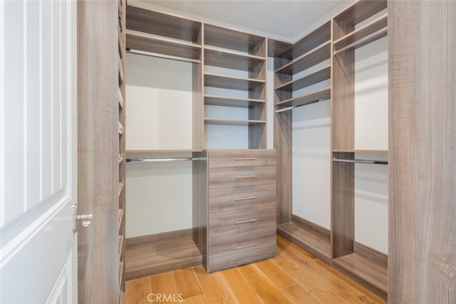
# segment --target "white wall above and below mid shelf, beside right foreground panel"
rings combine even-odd
[[[388,150],[388,39],[355,53],[355,148]],[[387,160],[385,154],[357,154]],[[355,240],[388,253],[388,166],[355,166]]]

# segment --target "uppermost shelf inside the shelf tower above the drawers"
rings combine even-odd
[[[265,58],[227,51],[221,48],[204,47],[204,64],[220,68],[250,71],[264,64]]]

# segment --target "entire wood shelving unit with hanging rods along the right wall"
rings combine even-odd
[[[355,241],[357,164],[388,164],[386,150],[355,145],[355,50],[388,33],[387,1],[356,1],[330,21],[286,46],[269,41],[274,56],[274,145],[278,154],[277,231],[314,256],[387,297],[387,257]],[[331,100],[331,230],[293,214],[292,109]],[[358,114],[359,115],[359,114]]]

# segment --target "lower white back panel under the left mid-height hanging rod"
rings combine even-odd
[[[192,162],[126,167],[127,238],[192,228]]]

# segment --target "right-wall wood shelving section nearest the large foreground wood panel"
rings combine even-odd
[[[331,92],[333,266],[383,298],[388,293],[386,255],[368,247],[358,251],[355,241],[355,176],[356,164],[388,164],[388,151],[355,149],[354,70],[355,50],[387,35],[386,8],[387,1],[357,1],[333,18]],[[378,154],[385,157],[378,159]]]

